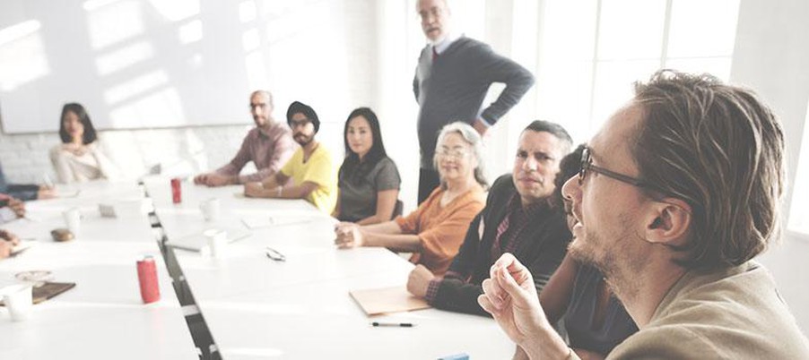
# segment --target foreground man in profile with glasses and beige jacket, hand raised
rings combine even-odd
[[[752,259],[779,234],[784,134],[750,90],[661,71],[589,142],[562,187],[570,256],[600,270],[639,331],[607,359],[806,359],[809,341]],[[518,356],[577,354],[509,253],[478,301]]]

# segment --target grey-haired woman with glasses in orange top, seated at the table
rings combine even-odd
[[[339,223],[335,244],[341,249],[385,246],[413,253],[410,261],[443,275],[464,241],[469,221],[483,209],[483,144],[474,128],[461,122],[444,126],[434,158],[441,184],[406,217],[360,226]]]

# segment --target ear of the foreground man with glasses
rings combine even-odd
[[[679,246],[685,244],[692,222],[691,206],[680,199],[649,201],[646,236],[650,243]]]

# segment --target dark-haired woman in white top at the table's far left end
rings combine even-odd
[[[101,151],[95,127],[81,104],[62,107],[59,136],[62,144],[50,150],[50,160],[60,183],[83,183],[117,176],[117,168]]]

